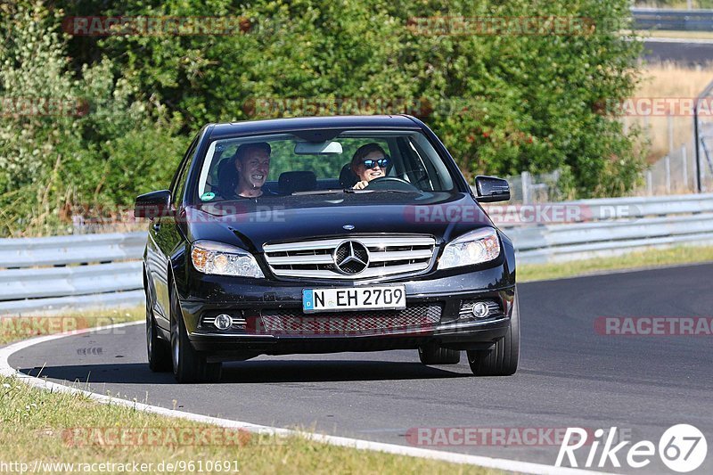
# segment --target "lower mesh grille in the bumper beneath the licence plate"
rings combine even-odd
[[[440,304],[404,310],[378,310],[304,315],[299,310],[264,310],[258,332],[287,335],[334,336],[425,331],[440,321]]]

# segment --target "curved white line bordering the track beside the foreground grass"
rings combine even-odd
[[[126,405],[132,407],[137,411],[143,411],[151,414],[160,414],[168,417],[176,417],[178,419],[186,419],[188,421],[194,422],[205,422],[209,424],[214,424],[220,427],[230,428],[230,429],[240,429],[248,430],[250,432],[257,432],[262,435],[271,436],[299,436],[307,438],[308,440],[314,440],[323,444],[329,444],[331,446],[343,446],[349,448],[356,448],[357,450],[374,450],[377,452],[383,452],[386,454],[393,455],[406,455],[412,457],[422,457],[431,460],[440,460],[450,463],[463,463],[469,465],[479,465],[480,467],[488,467],[492,469],[500,469],[504,471],[515,471],[520,473],[533,473],[542,475],[593,475],[602,474],[599,471],[588,471],[573,469],[570,467],[554,467],[553,465],[545,465],[542,463],[529,463],[520,462],[517,460],[508,460],[501,458],[485,457],[481,455],[465,455],[465,454],[455,454],[453,452],[442,452],[439,450],[431,450],[428,448],[420,448],[413,446],[399,446],[397,444],[387,444],[383,442],[372,442],[369,440],[360,440],[358,438],[346,438],[338,436],[329,436],[324,434],[315,434],[309,432],[301,432],[298,430],[282,429],[279,427],[270,427],[258,424],[252,424],[250,422],[240,422],[232,421],[230,419],[220,419],[217,417],[210,417],[201,414],[191,414],[184,413],[182,411],[176,411],[174,409],[166,409],[165,407],[160,407],[158,405],[147,405],[143,403],[137,403],[134,401],[128,401],[127,399],[121,399],[119,397],[111,397],[103,394],[94,393],[91,391],[86,391],[84,389],[70,388],[63,384],[58,384],[52,381],[46,381],[43,379],[35,378],[34,376],[28,376],[27,374],[20,373],[10,366],[8,359],[12,354],[18,351],[38,345],[40,343],[45,343],[46,341],[57,340],[60,338],[65,338],[72,335],[81,335],[88,332],[101,332],[105,330],[112,330],[116,328],[121,328],[129,325],[135,325],[143,323],[143,321],[138,322],[128,322],[128,323],[116,323],[113,325],[105,325],[96,328],[87,328],[78,331],[58,333],[54,335],[45,335],[30,340],[19,341],[17,343],[12,343],[4,348],[0,348],[0,374],[3,376],[16,376],[20,381],[38,389],[46,389],[51,391],[58,391],[68,394],[83,394],[86,397],[94,399],[94,401],[101,404],[116,404],[116,405]]]

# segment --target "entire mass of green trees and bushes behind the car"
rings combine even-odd
[[[625,193],[643,168],[636,131],[625,135],[599,107],[635,87],[641,45],[618,33],[628,8],[627,0],[0,4],[0,97],[89,103],[81,117],[0,117],[0,234],[48,233],[67,209],[130,206],[136,194],[168,185],[202,125],[256,119],[265,99],[427,103],[422,119],[469,178],[561,169],[570,197]],[[86,15],[231,15],[250,29],[62,32],[63,18]],[[407,28],[414,17],[436,16],[584,17],[596,29],[438,36]]]

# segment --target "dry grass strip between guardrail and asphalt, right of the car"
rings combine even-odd
[[[611,270],[643,269],[678,264],[713,262],[713,247],[675,247],[664,250],[643,250],[612,258],[594,258],[553,264],[523,264],[518,266],[518,282],[544,281],[595,274]]]

